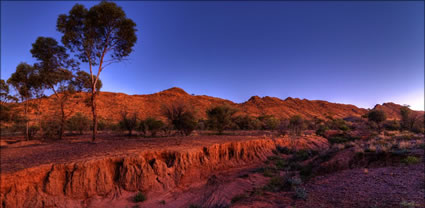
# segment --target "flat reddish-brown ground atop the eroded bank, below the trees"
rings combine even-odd
[[[229,141],[244,141],[260,136],[188,136],[188,137],[164,137],[143,138],[124,137],[103,134],[99,135],[96,143],[91,143],[90,135],[80,137],[68,137],[63,141],[44,142],[25,145],[30,142],[22,141],[1,148],[1,172],[14,172],[24,168],[30,168],[41,164],[65,163],[74,160],[87,159],[89,157],[108,157],[125,155],[132,152],[145,150],[185,150],[199,146],[210,146]],[[19,147],[20,143],[23,143]]]

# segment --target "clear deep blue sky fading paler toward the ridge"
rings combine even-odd
[[[1,1],[2,79],[35,62],[38,36],[60,40],[57,17],[75,3]],[[180,87],[237,103],[258,95],[424,110],[424,2],[117,4],[137,24],[138,41],[128,60],[101,73],[102,91]]]

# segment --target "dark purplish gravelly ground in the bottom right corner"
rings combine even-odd
[[[423,151],[421,155],[423,160]],[[266,192],[233,207],[390,208],[402,207],[403,201],[425,207],[424,181],[424,163],[347,169],[316,176],[302,185],[308,193],[305,201],[294,199],[293,192]]]

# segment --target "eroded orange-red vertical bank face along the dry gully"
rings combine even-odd
[[[142,191],[150,197],[189,187],[220,171],[255,164],[273,154],[276,146],[290,145],[294,144],[289,138],[248,138],[40,164],[1,174],[0,207],[90,207],[91,198],[113,200],[122,197],[122,192]],[[328,147],[321,137],[298,139],[295,145]]]

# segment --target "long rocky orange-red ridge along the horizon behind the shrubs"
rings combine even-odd
[[[74,114],[81,112],[90,116],[90,108],[87,105],[87,93],[77,93],[69,101],[66,112]],[[59,106],[55,104],[54,97],[33,100],[39,103],[43,114],[58,113]],[[239,115],[261,116],[274,115],[277,118],[289,118],[294,115],[301,115],[305,119],[327,119],[344,118],[348,116],[360,117],[368,112],[367,109],[359,108],[355,105],[331,103],[322,100],[307,100],[288,97],[281,100],[276,97],[253,96],[244,103],[234,103],[230,100],[206,96],[190,95],[181,88],[173,87],[158,93],[147,95],[127,95],[124,93],[100,92],[97,99],[98,115],[106,120],[117,122],[120,119],[120,112],[135,112],[139,118],[156,117],[165,119],[161,115],[163,105],[182,102],[192,106],[199,118],[205,119],[205,111],[208,108],[227,104],[239,110]],[[402,106],[394,103],[384,103],[376,105],[375,109],[383,110],[389,119],[400,119],[400,108]],[[423,112],[421,112],[423,113]],[[32,116],[34,116],[34,110]]]

